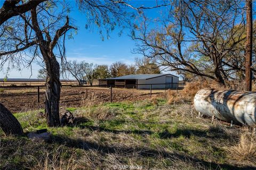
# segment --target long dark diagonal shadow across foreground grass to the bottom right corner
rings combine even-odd
[[[186,154],[179,154],[177,152],[167,152],[164,150],[154,150],[150,149],[147,147],[119,147],[119,146],[108,146],[108,145],[99,145],[98,143],[93,143],[93,142],[88,142],[84,141],[81,139],[70,139],[67,137],[62,137],[60,135],[53,135],[52,142],[58,143],[59,145],[66,145],[67,147],[70,148],[79,148],[79,149],[84,149],[84,150],[97,150],[100,154],[105,155],[105,154],[133,154],[136,152],[142,157],[153,157],[157,158],[159,157],[164,157],[164,158],[169,158],[172,160],[181,160],[183,162],[193,162],[195,165],[196,164],[201,164],[209,169],[255,169],[255,167],[251,166],[244,166],[244,167],[237,167],[234,165],[230,164],[217,164],[213,162],[207,162],[205,160],[196,158],[196,157],[191,157]]]

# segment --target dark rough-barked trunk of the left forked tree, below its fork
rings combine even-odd
[[[45,113],[49,127],[60,126],[59,103],[60,103],[60,66],[55,57],[51,57],[46,64],[47,82]]]

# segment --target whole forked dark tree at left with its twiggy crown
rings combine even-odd
[[[32,8],[26,15],[19,15],[19,22],[15,21],[17,27],[11,25],[13,21],[6,22],[3,25],[6,29],[1,36],[3,44],[0,49],[2,65],[6,61],[14,62],[19,58],[19,61],[28,65],[35,58],[37,60],[42,58],[41,60],[44,61],[47,73],[45,113],[48,126],[60,125],[60,65],[54,53],[59,52],[60,60],[65,60],[66,32],[76,29],[69,25],[68,16],[65,17],[67,8],[54,12],[52,9],[56,5],[52,1],[47,1],[37,8]],[[65,20],[66,22],[63,22]],[[20,65],[21,62],[16,64]]]

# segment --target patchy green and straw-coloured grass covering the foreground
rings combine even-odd
[[[186,106],[186,107],[185,107]],[[192,106],[191,106],[192,107]],[[168,105],[165,99],[106,103],[67,108],[81,117],[74,126],[47,128],[33,111],[14,114],[25,132],[47,128],[52,141],[26,137],[0,139],[0,169],[113,169],[140,165],[143,169],[237,169],[223,149],[234,144],[227,131],[210,119],[196,118],[187,104]],[[191,109],[191,108],[190,108]],[[3,136],[3,132],[0,131]]]

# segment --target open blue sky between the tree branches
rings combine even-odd
[[[132,1],[134,4],[144,3],[145,6],[155,5],[155,0],[152,1]],[[74,1],[70,1],[75,5]],[[0,0],[2,6],[3,0]],[[147,17],[154,19],[160,16],[159,11],[164,7],[151,9],[146,11]],[[70,18],[74,19],[74,24],[78,27],[77,35],[73,39],[66,40],[67,60],[86,61],[94,64],[110,65],[116,61],[121,61],[126,64],[132,64],[135,57],[142,57],[140,54],[132,54],[131,51],[135,48],[135,42],[128,36],[130,30],[123,30],[121,37],[118,36],[119,28],[110,33],[110,39],[101,40],[97,27],[94,30],[85,29],[85,14],[79,11],[76,7],[72,8]],[[7,66],[6,66],[7,67]],[[32,75],[30,69],[23,68],[22,71],[12,69],[8,72],[8,78],[37,78],[37,71],[40,67],[33,64]],[[0,78],[5,77],[6,69],[0,72]]]

